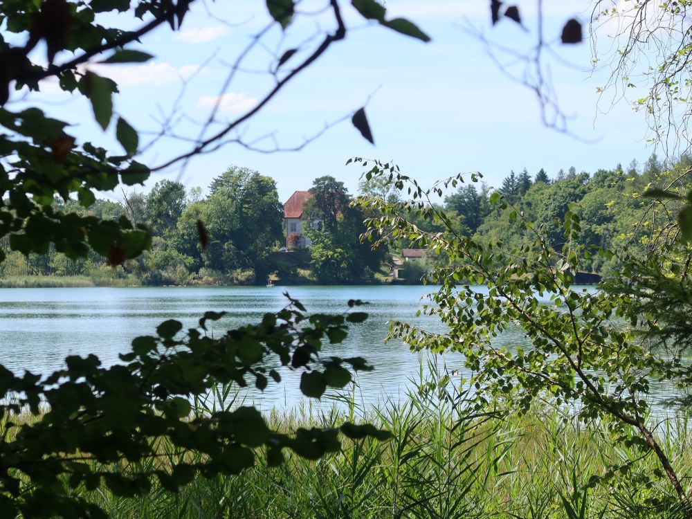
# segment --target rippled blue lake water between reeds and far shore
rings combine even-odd
[[[358,374],[357,379],[356,400],[367,406],[402,399],[413,385],[411,379],[419,379],[421,365],[426,367],[428,356],[410,352],[399,340],[384,343],[384,339],[390,319],[444,331],[435,318],[415,317],[421,297],[434,290],[434,286],[381,285],[0,289],[0,362],[16,373],[47,374],[62,367],[67,355],[93,353],[104,365],[112,365],[118,354],[129,351],[133,338],[155,335],[156,326],[166,319],[196,327],[205,311],[228,311],[223,320],[209,325],[211,333],[221,335],[285,307],[284,291],[313,313],[342,313],[349,299],[361,299],[369,303],[363,310],[370,317],[352,325],[342,344],[327,345],[324,354],[363,356],[374,365],[373,372]],[[522,339],[520,330],[510,330],[498,338],[498,345],[511,346],[523,343]],[[440,366],[464,375],[461,354],[436,358]],[[253,390],[246,398],[263,410],[302,406],[300,373],[285,370],[282,376],[280,385],[270,384],[264,393]]]

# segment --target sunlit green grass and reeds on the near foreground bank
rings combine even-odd
[[[112,518],[682,518],[653,455],[616,444],[602,425],[576,424],[569,413],[536,408],[473,414],[463,399],[412,395],[358,417],[351,407],[331,412],[274,412],[279,430],[336,426],[367,419],[390,430],[390,441],[346,441],[341,453],[311,461],[284,453],[270,468],[258,453],[251,470],[207,479],[179,493],[152,489],[119,498],[87,492]],[[347,402],[347,406],[348,406]],[[201,410],[204,412],[204,410]],[[692,438],[684,418],[657,430],[671,461],[689,485]],[[169,470],[195,453],[159,446],[149,462],[111,466],[127,475]],[[601,478],[596,482],[597,478]]]

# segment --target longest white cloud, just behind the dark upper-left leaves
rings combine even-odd
[[[163,86],[186,80],[200,71],[199,65],[178,68],[170,63],[149,62],[141,65],[91,65],[89,70],[118,83],[120,86]]]

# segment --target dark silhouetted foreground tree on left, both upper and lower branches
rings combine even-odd
[[[145,147],[140,145],[140,135],[125,118],[114,116],[113,94],[118,93],[118,85],[98,75],[91,65],[151,59],[152,55],[131,45],[145,41],[161,26],[180,29],[193,2],[138,0],[131,10],[129,1],[118,0],[0,3],[0,264],[8,256],[7,246],[10,253],[16,251],[26,257],[45,254],[51,246],[71,260],[95,253],[113,266],[138,257],[152,246],[152,236],[140,219],[143,203],[138,207],[127,203],[128,217],[123,215],[114,221],[55,208],[55,195],[64,201],[76,196],[81,206],[89,208],[95,202],[93,190],[111,191],[119,184],[143,183],[154,170],[164,170],[220,147],[230,132],[259,113],[296,75],[347,34],[338,2],[330,0],[326,12],[333,16],[333,29],[308,39],[300,47],[304,51],[302,60],[293,60],[286,73],[277,74],[286,56],[298,49],[286,48],[281,56],[272,57],[268,69],[275,84],[257,104],[215,128],[208,137],[192,138],[190,147],[179,155],[158,165],[145,165],[136,161]],[[354,7],[365,19],[422,41],[429,39],[408,20],[389,19],[385,8],[374,0],[358,1]],[[301,16],[293,0],[269,1],[267,8],[282,29]],[[104,12],[111,13],[104,16]],[[145,21],[131,29],[132,17]],[[118,25],[102,25],[107,21]],[[14,34],[4,37],[5,31]],[[265,31],[258,33],[253,46],[264,43]],[[45,51],[45,60],[39,57],[39,51]],[[246,54],[239,52],[238,60]],[[28,108],[12,111],[12,102],[27,90],[42,89],[44,80],[54,80],[53,84],[63,91],[82,95],[91,104],[98,125],[104,130],[114,127],[122,149],[113,151],[78,142],[68,133],[69,122],[46,116],[33,106],[31,95],[23,98]],[[212,109],[205,129],[215,120],[215,113]],[[352,122],[372,142],[362,108],[354,112]],[[170,127],[164,125],[160,136],[172,136]],[[183,137],[183,142],[189,141]],[[239,139],[236,142],[248,145]],[[258,193],[271,202],[268,183],[262,181]],[[239,212],[244,214],[246,208]],[[204,246],[203,224],[196,223]],[[268,380],[261,361],[266,354],[276,354],[282,365],[304,370],[317,361],[322,336],[326,334],[331,343],[343,340],[345,317],[318,316],[315,322],[309,322],[300,314],[301,309],[300,303],[293,302],[293,307],[265,316],[258,327],[232,331],[222,340],[204,335],[206,321],[219,314],[206,314],[199,329],[190,329],[185,338],[176,338],[181,323],[165,321],[157,328],[158,336],[138,338],[133,351],[122,357],[123,364],[109,369],[101,368],[95,356],[71,356],[66,359],[65,370],[42,380],[30,373],[15,376],[0,366],[0,410],[5,430],[15,427],[10,416],[24,406],[30,408],[36,420],[16,435],[3,435],[0,441],[0,515],[104,516],[97,507],[71,495],[69,487],[86,485],[95,489],[103,484],[117,495],[134,495],[148,488],[148,478],[154,473],[163,486],[177,489],[200,472],[237,472],[253,463],[253,449],[262,445],[268,448],[270,464],[281,462],[282,448],[293,448],[311,458],[338,450],[336,430],[301,430],[284,435],[268,430],[252,408],[201,417],[199,423],[188,419],[190,407],[185,397],[205,392],[214,381],[244,385],[244,376],[248,375],[253,376],[257,388],[264,388]],[[349,321],[359,322],[364,317],[354,313]],[[309,340],[304,333],[311,334]],[[354,369],[364,366],[354,359],[347,364]],[[333,359],[331,364],[323,365],[324,370],[304,372],[301,390],[310,397],[319,397],[327,385],[343,387],[350,375],[341,365],[342,361]],[[275,373],[269,375],[277,380]],[[40,402],[48,406],[44,412]],[[342,432],[354,437],[378,434],[372,427],[347,425]],[[153,450],[156,438],[170,441],[174,449],[199,448],[205,457],[194,466],[181,462],[167,470],[149,468],[131,478],[89,464],[92,460],[119,464],[126,459],[153,459],[157,455]]]

